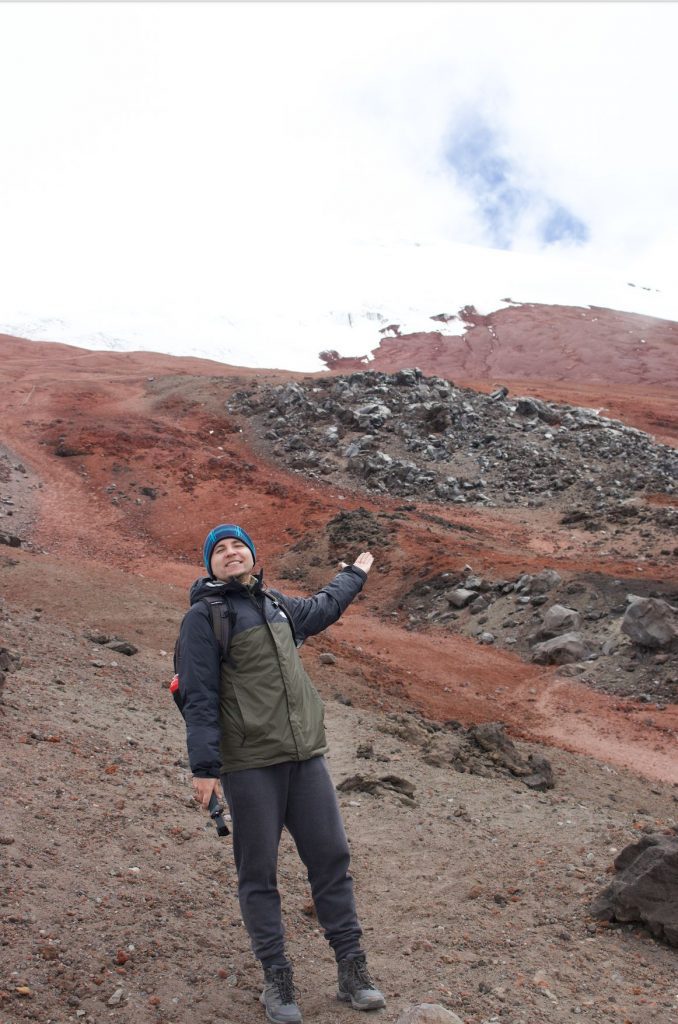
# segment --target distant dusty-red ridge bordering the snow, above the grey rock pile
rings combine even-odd
[[[461,337],[440,331],[385,337],[368,365],[332,360],[340,373],[417,366],[455,384],[595,407],[604,416],[678,443],[678,324],[595,306],[529,303],[486,316]]]

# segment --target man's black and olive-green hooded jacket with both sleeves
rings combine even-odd
[[[323,702],[294,638],[335,623],[367,575],[349,565],[314,597],[285,597],[294,636],[278,598],[264,589],[203,578],[190,588],[179,631],[177,671],[194,775],[215,778],[243,768],[305,761],[327,751]],[[225,596],[231,609],[228,657],[221,662],[204,597]]]

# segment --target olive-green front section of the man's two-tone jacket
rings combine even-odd
[[[286,622],[231,638],[221,665],[222,773],[325,754],[324,718]]]

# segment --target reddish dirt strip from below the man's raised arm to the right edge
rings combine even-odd
[[[555,669],[525,665],[467,637],[404,635],[356,614],[346,615],[340,629],[342,648],[362,646],[381,663],[382,678],[397,680],[407,702],[424,715],[464,725],[501,720],[525,739],[678,783],[676,705],[656,712],[596,693],[558,678]]]

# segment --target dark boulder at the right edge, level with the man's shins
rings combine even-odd
[[[678,836],[644,836],[615,860],[618,874],[591,904],[599,921],[639,922],[678,946]]]

